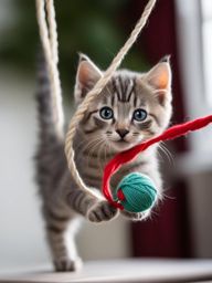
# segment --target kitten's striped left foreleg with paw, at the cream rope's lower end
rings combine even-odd
[[[95,198],[80,189],[73,189],[67,196],[68,206],[92,222],[108,221],[117,216],[117,209],[108,201]]]

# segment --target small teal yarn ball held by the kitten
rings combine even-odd
[[[156,201],[157,189],[153,181],[140,172],[127,175],[118,185],[115,199],[130,212],[142,212]]]

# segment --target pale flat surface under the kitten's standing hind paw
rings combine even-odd
[[[85,263],[77,273],[54,273],[47,269],[0,273],[2,283],[67,282],[212,282],[212,260],[121,260]]]

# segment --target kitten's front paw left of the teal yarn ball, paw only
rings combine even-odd
[[[87,213],[87,219],[92,222],[108,221],[116,217],[117,208],[114,208],[108,201],[95,203]]]

